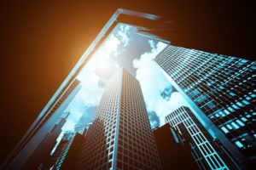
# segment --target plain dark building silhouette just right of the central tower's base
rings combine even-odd
[[[200,169],[187,140],[168,123],[154,129],[153,133],[163,169]]]

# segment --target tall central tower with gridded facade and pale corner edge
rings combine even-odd
[[[77,169],[160,169],[139,82],[122,69],[106,84]]]

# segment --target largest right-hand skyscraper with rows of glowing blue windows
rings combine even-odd
[[[255,161],[255,61],[166,46],[155,59],[213,138]]]

